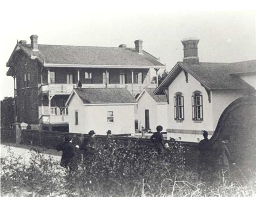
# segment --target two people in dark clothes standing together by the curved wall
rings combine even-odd
[[[230,165],[235,164],[227,147],[230,137],[224,135],[220,141],[212,144],[208,139],[208,132],[205,130],[202,132],[204,139],[198,144],[200,176],[204,178],[211,172],[218,172],[224,178],[230,177]]]

